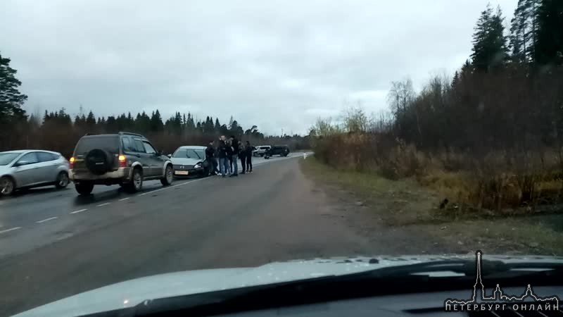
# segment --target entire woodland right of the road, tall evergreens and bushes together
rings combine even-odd
[[[563,1],[519,0],[510,30],[487,6],[472,54],[416,92],[391,82],[390,116],[350,108],[311,128],[337,168],[416,177],[450,201],[490,209],[563,199]]]

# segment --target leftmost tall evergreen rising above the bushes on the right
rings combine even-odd
[[[493,67],[502,66],[507,58],[505,27],[502,25],[500,7],[496,13],[490,5],[481,12],[473,35],[473,65],[478,70],[488,71]]]

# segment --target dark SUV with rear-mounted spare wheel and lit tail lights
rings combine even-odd
[[[170,159],[148,139],[119,132],[81,137],[70,158],[68,176],[79,194],[89,194],[94,185],[119,184],[131,192],[139,191],[144,180],[170,185],[173,173]]]

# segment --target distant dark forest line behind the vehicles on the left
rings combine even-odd
[[[287,144],[291,149],[308,149],[308,136],[265,136],[258,126],[244,129],[232,116],[228,123],[207,116],[194,118],[191,113],[175,112],[163,119],[158,109],[133,115],[95,116],[92,111],[72,118],[65,108],[27,115],[22,108],[27,96],[19,91],[17,71],[10,67],[10,58],[0,55],[0,151],[11,149],[49,149],[70,157],[80,137],[89,134],[137,132],[145,135],[158,149],[167,153],[181,145],[206,145],[220,135],[236,135],[252,144]]]

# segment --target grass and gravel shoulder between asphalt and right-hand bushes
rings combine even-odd
[[[315,158],[301,169],[317,191],[343,207],[343,220],[381,254],[562,253],[563,234],[557,215],[478,218],[445,215],[441,197],[415,180],[387,180],[379,175],[336,170]]]

